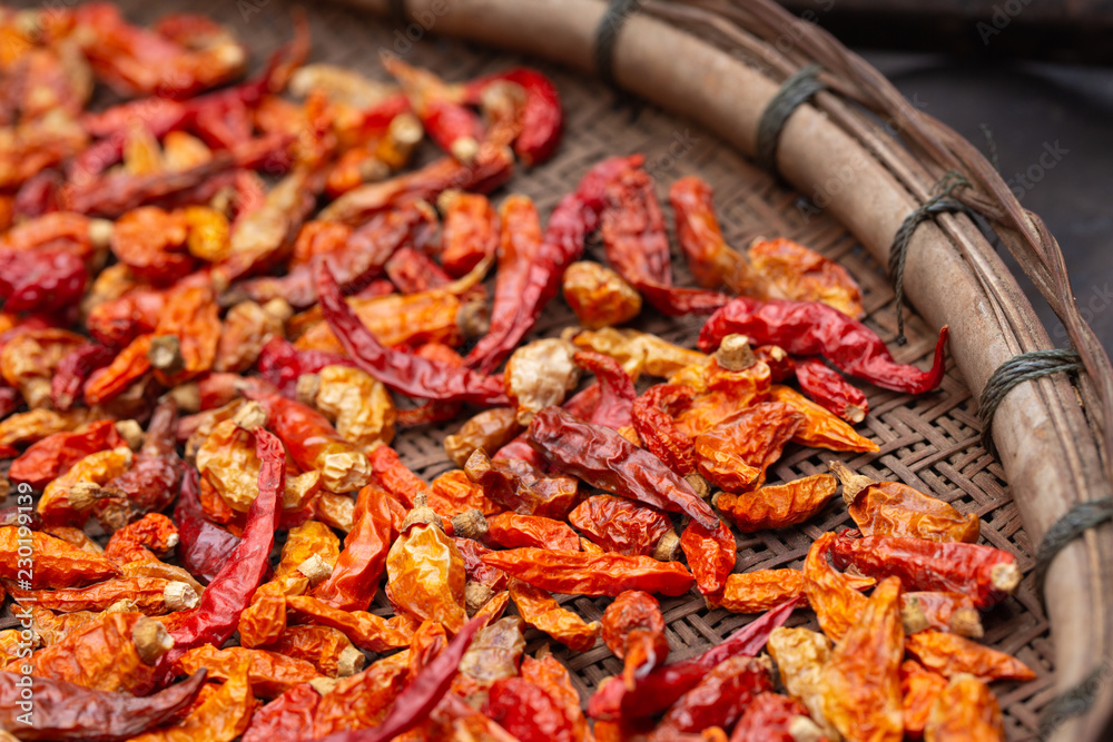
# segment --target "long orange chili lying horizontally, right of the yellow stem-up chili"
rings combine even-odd
[[[523,547],[484,554],[483,562],[535,587],[571,595],[618,595],[624,590],[682,595],[693,582],[679,562],[648,556]]]

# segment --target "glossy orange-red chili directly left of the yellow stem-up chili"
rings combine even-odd
[[[366,611],[371,606],[394,535],[388,497],[374,484],[359,491],[344,551],[332,575],[314,591],[315,596],[346,611]]]

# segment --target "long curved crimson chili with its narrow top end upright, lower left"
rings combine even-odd
[[[263,428],[255,431],[255,442],[260,461],[259,494],[247,513],[247,525],[239,545],[205,588],[200,605],[190,609],[170,630],[174,649],[159,660],[167,669],[167,675],[173,673],[169,669],[175,662],[189,650],[203,644],[219,646],[236,632],[239,614],[250,604],[252,596],[270,568],[270,550],[275,543],[286,481],[286,451],[277,437]],[[181,532],[179,523],[179,536]]]

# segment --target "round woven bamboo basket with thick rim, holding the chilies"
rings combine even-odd
[[[662,197],[672,180],[686,175],[711,182],[733,245],[759,235],[786,236],[846,266],[863,286],[867,324],[886,340],[897,335],[897,304],[883,269],[894,236],[933,196],[944,174],[965,176],[971,185],[954,196],[974,216],[938,215],[920,224],[908,244],[908,343],[890,346],[898,360],[922,362],[930,355],[935,330],[949,325],[946,379],[939,392],[917,398],[867,389],[873,412],[859,429],[879,443],[880,452],[849,463],[977,513],[986,542],[1018,557],[1024,582],[985,616],[984,641],[1038,673],[1031,683],[995,685],[1008,738],[1110,739],[1113,525],[1106,520],[1064,538],[1068,545],[1051,561],[1042,594],[1035,567],[1053,524],[1076,514],[1081,503],[1099,503],[1091,509],[1105,512],[1101,503],[1113,481],[1113,373],[1078,315],[1054,238],[972,145],[916,110],[821,29],[770,0],[348,4],[309,9],[315,61],[381,78],[378,52],[387,50],[450,80],[516,62],[553,77],[567,112],[564,141],[551,162],[519,171],[508,186],[533,197],[543,215],[601,158],[643,152]],[[140,21],[171,9],[205,12],[227,23],[259,58],[290,34],[288,9],[269,0],[125,3],[127,14]],[[772,171],[762,170],[754,164],[762,112],[785,79],[807,65],[819,66],[826,90],[787,119],[774,138]],[[997,257],[989,241],[994,235],[1055,309],[1085,370],[1012,388],[993,419],[996,451],[989,452],[981,443],[977,404],[987,380],[1014,356],[1052,347]],[[683,260],[673,265],[678,283],[690,285]],[[698,319],[639,321],[642,329],[688,345],[699,329]],[[534,337],[574,324],[568,307],[554,301]],[[412,468],[432,478],[452,467],[442,441],[453,427],[410,431],[396,447]],[[770,483],[826,471],[829,456],[789,452],[770,472]],[[738,535],[736,570],[798,566],[816,536],[846,523],[841,503],[833,503],[798,528]],[[562,602],[595,620],[608,601],[565,596]],[[721,641],[752,619],[708,610],[695,591],[662,601],[662,609],[676,657]],[[390,611],[382,594],[376,610]],[[807,612],[792,619],[808,621],[814,624]],[[538,632],[526,639],[528,651],[546,641]],[[583,654],[555,647],[555,654],[572,671],[583,699],[621,669],[601,644]]]

